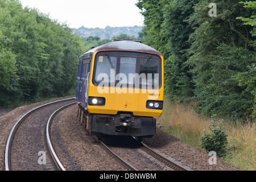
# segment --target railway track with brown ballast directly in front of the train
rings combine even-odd
[[[113,158],[115,158],[116,160],[118,160],[119,163],[121,163],[123,166],[125,166],[127,169],[131,170],[131,171],[139,171],[139,169],[137,167],[132,166],[132,164],[130,164],[131,162],[127,162],[127,159],[122,158],[121,155],[117,154],[117,152],[115,152],[114,150],[112,150],[113,147],[108,147],[107,144],[105,144],[104,142],[102,142],[100,139],[98,139],[95,135],[93,136],[97,142],[99,142],[101,144],[101,146],[104,148],[104,150],[106,150],[110,155],[113,156]],[[135,138],[134,138],[135,140]],[[138,143],[138,141],[136,141]],[[146,154],[142,151],[140,151],[141,154],[146,155],[147,158],[151,158],[151,162],[154,162],[154,166],[160,166],[159,169],[164,170],[174,170],[174,171],[192,171],[192,168],[186,167],[178,162],[176,162],[174,159],[170,159],[168,156],[164,156],[163,154],[160,154],[159,152],[153,150],[152,148],[148,147],[146,144],[144,143],[139,143],[139,145],[141,147],[138,148],[132,148],[133,151],[136,150],[143,150],[146,152]],[[129,151],[125,151],[123,152],[124,154],[127,154]],[[140,159],[137,157],[137,162],[140,161]],[[137,164],[138,165],[138,164]]]

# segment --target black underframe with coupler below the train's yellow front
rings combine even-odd
[[[90,114],[77,104],[77,117],[88,134],[92,132],[107,135],[127,135],[150,138],[156,132],[156,119],[134,116],[133,113],[118,112],[117,115]]]

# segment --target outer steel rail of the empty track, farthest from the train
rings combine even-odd
[[[45,107],[45,106],[48,106],[48,105],[51,105],[51,104],[55,104],[57,102],[63,102],[63,101],[68,101],[68,100],[73,100],[73,99],[75,99],[75,97],[67,98],[67,99],[59,100],[59,101],[54,101],[54,102],[50,102],[50,103],[44,104],[42,106],[38,106],[35,109],[32,109],[32,110],[28,111],[26,114],[24,114],[15,123],[15,125],[13,126],[13,128],[10,131],[9,137],[7,139],[7,142],[6,142],[6,147],[5,147],[5,170],[6,171],[10,171],[11,170],[11,165],[10,165],[10,162],[11,162],[11,160],[10,160],[11,144],[13,143],[13,138],[14,138],[14,135],[16,133],[16,130],[18,129],[19,125],[24,121],[24,119],[26,119],[30,114],[34,113],[36,110],[41,109],[42,107]]]

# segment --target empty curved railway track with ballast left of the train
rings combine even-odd
[[[76,103],[74,99],[68,98],[36,107],[15,123],[6,142],[6,171],[65,170],[53,150],[50,126],[57,113]],[[40,114],[36,114],[38,112]],[[42,163],[45,165],[40,165]]]

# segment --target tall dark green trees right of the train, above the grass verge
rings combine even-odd
[[[205,114],[256,118],[255,1],[139,0],[143,42],[165,57],[166,94]]]

